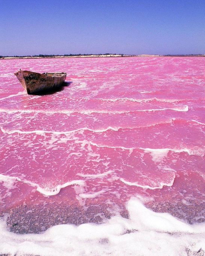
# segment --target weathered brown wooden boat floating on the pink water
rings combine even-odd
[[[14,73],[28,94],[36,94],[55,87],[62,86],[66,79],[66,73],[36,73],[19,70]]]

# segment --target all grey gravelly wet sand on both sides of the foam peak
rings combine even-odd
[[[129,213],[124,205],[119,214],[123,218],[129,218]],[[170,213],[175,218],[181,219],[188,224],[202,223],[204,204],[185,205],[179,202],[173,205],[170,202],[148,202],[146,207],[154,212]],[[99,205],[87,205],[86,207],[74,204],[41,204],[19,205],[11,208],[8,213],[7,225],[14,233],[40,233],[48,228],[59,224],[81,225],[85,223],[101,224],[106,219],[115,215],[113,209],[103,202]],[[0,216],[3,216],[1,213]],[[197,217],[196,216],[201,216]]]

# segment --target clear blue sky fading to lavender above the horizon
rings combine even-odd
[[[0,55],[205,54],[205,0],[0,0]]]

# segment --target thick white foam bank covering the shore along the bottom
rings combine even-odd
[[[130,219],[114,216],[100,225],[56,225],[38,235],[10,233],[6,220],[1,219],[0,253],[186,256],[186,248],[205,250],[204,224],[191,226],[167,213],[152,212],[134,198],[128,202],[127,209]]]

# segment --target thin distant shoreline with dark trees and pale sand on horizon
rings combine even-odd
[[[9,59],[39,59],[39,58],[106,58],[106,57],[205,57],[205,54],[191,55],[127,55],[127,54],[90,54],[90,55],[33,55],[33,56],[1,56],[0,60]]]

